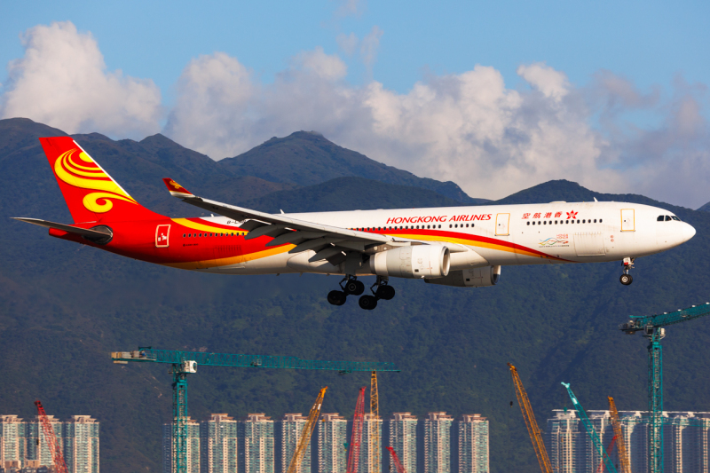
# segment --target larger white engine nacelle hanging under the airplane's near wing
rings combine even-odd
[[[414,245],[388,249],[370,256],[370,271],[394,278],[443,278],[449,273],[449,248]]]

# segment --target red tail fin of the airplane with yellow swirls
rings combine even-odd
[[[133,199],[74,139],[39,141],[75,223],[162,217]]]

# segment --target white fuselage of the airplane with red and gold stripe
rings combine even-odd
[[[451,271],[487,265],[619,261],[674,248],[695,234],[692,226],[672,212],[626,202],[355,210],[288,214],[288,217],[401,240],[447,245],[452,248]],[[226,217],[205,220],[238,225]],[[204,271],[343,273],[342,267],[327,262],[308,263],[307,255],[284,251]]]

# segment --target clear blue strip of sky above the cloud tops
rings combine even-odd
[[[500,1],[362,2],[357,13],[320,2],[3,2],[0,64],[22,55],[19,35],[71,20],[99,41],[109,69],[150,77],[170,93],[185,64],[224,51],[272,80],[298,51],[338,51],[336,36],[383,30],[375,79],[406,92],[427,70],[461,73],[496,67],[517,83],[520,64],[545,61],[572,83],[606,68],[642,89],[676,74],[710,77],[710,3]],[[351,83],[364,70],[351,61]]]

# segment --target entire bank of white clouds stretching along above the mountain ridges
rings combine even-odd
[[[370,66],[381,35],[375,27],[358,42]],[[117,138],[157,130],[154,84],[106,72],[91,35],[55,23],[29,29],[23,42],[25,56],[11,64],[0,98],[3,116]],[[678,78],[668,94],[639,91],[610,71],[585,87],[545,64],[517,72],[529,88],[510,89],[498,70],[476,66],[430,75],[398,93],[375,81],[352,86],[343,80],[343,60],[322,48],[297,54],[269,84],[216,52],[183,70],[164,132],[221,159],[273,136],[318,130],[376,161],[490,199],[565,178],[693,208],[710,201],[705,85]]]

